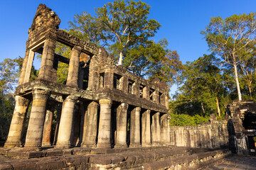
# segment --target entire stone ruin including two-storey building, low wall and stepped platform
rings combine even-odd
[[[198,169],[230,155],[227,120],[170,127],[166,84],[137,77],[59,24],[38,6],[0,169]],[[68,74],[59,81],[63,65]]]

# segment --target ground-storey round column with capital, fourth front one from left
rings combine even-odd
[[[97,148],[110,148],[110,121],[112,100],[100,99],[100,122]]]

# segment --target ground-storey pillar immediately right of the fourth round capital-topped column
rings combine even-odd
[[[127,103],[121,103],[117,108],[117,143],[115,147],[127,147]]]

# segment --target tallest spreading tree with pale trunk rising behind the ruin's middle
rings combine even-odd
[[[127,48],[153,37],[160,27],[157,21],[148,18],[149,9],[150,6],[142,1],[116,0],[95,9],[96,16],[85,12],[75,15],[70,30],[91,42],[102,40],[105,45],[110,40],[110,49],[118,52],[118,64],[122,65]]]

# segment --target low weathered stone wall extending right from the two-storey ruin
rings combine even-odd
[[[198,126],[171,126],[171,145],[177,147],[219,148],[228,146],[227,121],[210,119]]]

